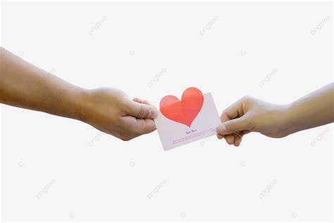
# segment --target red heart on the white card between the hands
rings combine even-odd
[[[187,88],[178,100],[178,97],[167,95],[161,99],[160,111],[167,119],[171,119],[186,126],[191,126],[192,121],[201,111],[204,102],[203,94],[197,88]]]

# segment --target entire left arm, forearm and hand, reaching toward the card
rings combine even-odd
[[[157,111],[115,88],[87,90],[43,71],[0,47],[0,103],[77,119],[131,140],[156,130]]]

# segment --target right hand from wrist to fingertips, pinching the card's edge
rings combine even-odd
[[[242,97],[221,114],[218,139],[239,146],[242,136],[259,132],[271,138],[282,138],[291,132],[287,128],[286,105],[269,104],[253,97]]]

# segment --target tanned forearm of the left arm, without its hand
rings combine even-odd
[[[80,119],[83,92],[0,47],[0,103]]]

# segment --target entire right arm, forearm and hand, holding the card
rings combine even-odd
[[[239,146],[243,135],[250,132],[283,138],[297,131],[333,123],[333,108],[333,82],[285,105],[242,97],[221,114],[217,137],[235,146]]]

